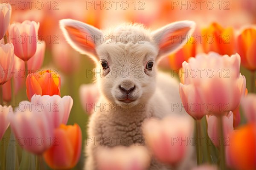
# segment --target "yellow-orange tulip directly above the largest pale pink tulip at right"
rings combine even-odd
[[[234,54],[233,28],[222,28],[218,23],[212,23],[209,28],[202,30],[204,52],[217,52],[221,55]]]

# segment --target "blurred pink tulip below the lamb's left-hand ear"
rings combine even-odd
[[[79,52],[74,51],[64,39],[52,44],[52,57],[55,65],[65,74],[72,74],[79,68]]]

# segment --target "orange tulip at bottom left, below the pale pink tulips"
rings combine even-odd
[[[44,160],[52,169],[71,169],[79,161],[82,134],[79,125],[64,125],[54,131],[56,143],[44,152]]]

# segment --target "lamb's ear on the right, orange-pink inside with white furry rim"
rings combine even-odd
[[[159,48],[158,60],[181,48],[194,29],[195,22],[179,21],[153,31],[151,36]]]

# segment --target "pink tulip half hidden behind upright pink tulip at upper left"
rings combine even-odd
[[[41,43],[37,43],[36,52],[31,59],[28,60],[28,69],[29,73],[34,73],[38,71],[44,62],[44,54],[45,54],[45,41]],[[24,64],[23,64],[24,65]]]

